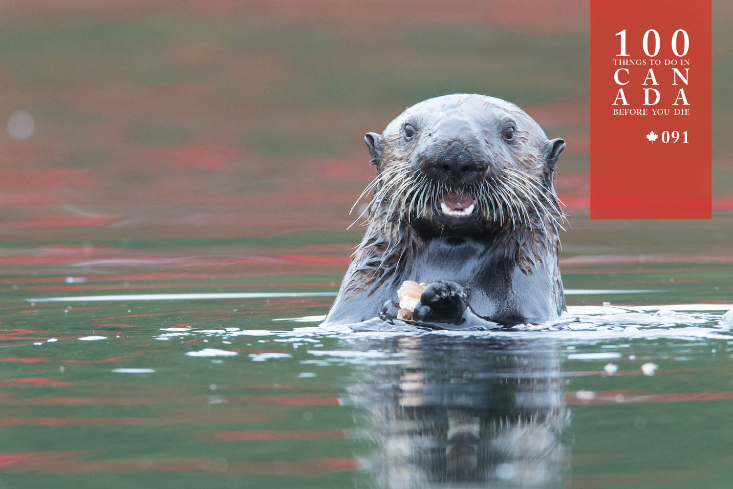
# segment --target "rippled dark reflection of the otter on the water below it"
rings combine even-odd
[[[405,364],[364,369],[352,398],[367,411],[377,487],[562,485],[567,420],[559,355],[547,341],[402,337],[366,345]]]

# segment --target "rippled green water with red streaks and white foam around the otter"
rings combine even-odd
[[[729,263],[567,265],[551,328],[357,334],[309,296],[341,264],[253,279],[209,244],[3,280],[1,487],[729,487]]]

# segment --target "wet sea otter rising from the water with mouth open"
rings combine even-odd
[[[325,323],[394,321],[402,282],[427,282],[412,321],[430,328],[541,323],[565,309],[565,216],[553,175],[562,139],[499,98],[454,94],[364,137],[377,177]]]

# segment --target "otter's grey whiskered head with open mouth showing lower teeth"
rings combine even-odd
[[[565,143],[505,100],[424,100],[364,141],[377,166],[370,218],[421,235],[556,229],[564,219],[553,172]]]

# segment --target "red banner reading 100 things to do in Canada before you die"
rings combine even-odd
[[[710,16],[592,1],[592,218],[710,218]]]

